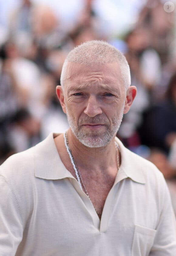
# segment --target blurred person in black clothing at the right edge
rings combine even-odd
[[[176,73],[171,77],[164,99],[144,114],[141,142],[168,155],[176,138]]]

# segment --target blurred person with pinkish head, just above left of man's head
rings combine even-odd
[[[60,24],[59,17],[47,5],[35,6],[32,12],[31,26],[34,50],[35,46],[37,47],[33,61],[40,71],[45,73],[52,69],[51,65],[48,66],[48,59],[55,58],[54,61],[51,61],[51,64],[56,66],[54,64],[54,62],[56,63],[56,56],[54,57],[53,53],[55,52],[57,56],[60,54],[57,62],[61,61],[62,64],[63,56],[74,47],[74,43]],[[56,67],[53,68],[56,70]],[[59,67],[60,69],[61,67]]]

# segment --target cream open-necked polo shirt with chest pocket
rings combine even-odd
[[[175,256],[170,195],[158,169],[117,139],[122,162],[101,221],[53,136],[0,167],[1,256]]]

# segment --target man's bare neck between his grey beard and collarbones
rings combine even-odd
[[[104,147],[89,148],[83,145],[73,134],[71,129],[68,130],[68,142],[73,158],[81,169],[88,169],[89,172],[107,172],[112,167],[117,166],[116,148],[113,139]]]

